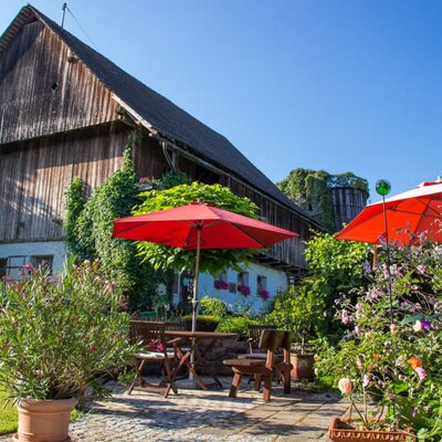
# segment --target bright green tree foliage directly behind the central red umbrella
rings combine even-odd
[[[204,201],[220,209],[254,219],[257,218],[257,206],[248,198],[235,196],[229,188],[220,185],[192,182],[191,185],[176,186],[166,190],[146,191],[140,193],[140,197],[145,198],[145,201],[133,211],[134,214],[186,206],[192,201]],[[140,256],[156,270],[175,269],[182,271],[194,267],[194,250],[169,248],[150,242],[139,242],[137,245]],[[241,272],[239,264],[248,262],[253,253],[253,249],[202,250],[200,271],[213,276],[229,267]]]

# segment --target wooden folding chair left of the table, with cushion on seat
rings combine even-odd
[[[141,351],[135,355],[135,371],[136,376],[134,382],[130,385],[128,394],[135,388],[137,382],[146,390],[162,391],[165,398],[172,390],[176,394],[178,389],[175,386],[176,371],[173,364],[177,361],[177,352],[175,350],[170,351],[167,345],[173,344],[171,341],[167,343],[165,338],[166,326],[162,323],[151,323],[147,320],[130,320],[129,322],[129,339],[131,343],[140,343],[144,347]],[[173,339],[173,341],[178,341]],[[143,380],[143,369],[146,364],[149,362],[160,362],[161,367],[165,369],[165,380],[158,383],[146,382]]]

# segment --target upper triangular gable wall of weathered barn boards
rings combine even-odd
[[[11,42],[0,59],[0,144],[115,119],[110,93],[71,55],[40,21]]]

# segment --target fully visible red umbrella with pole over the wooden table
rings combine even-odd
[[[192,332],[198,305],[200,249],[269,248],[297,233],[203,202],[114,221],[114,238],[196,250]]]

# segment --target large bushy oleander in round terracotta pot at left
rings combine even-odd
[[[70,261],[60,277],[27,266],[0,285],[0,385],[18,403],[15,440],[69,440],[77,398],[131,360],[128,316],[102,274]]]

